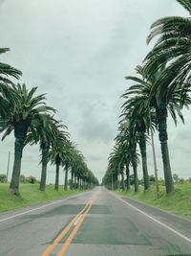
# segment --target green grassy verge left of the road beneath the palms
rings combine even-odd
[[[34,203],[49,201],[56,198],[65,198],[83,191],[64,191],[63,186],[59,191],[54,190],[53,185],[46,186],[46,192],[39,191],[39,184],[20,184],[20,197],[9,193],[10,184],[0,183],[0,212],[10,211],[16,208],[29,206]]]

